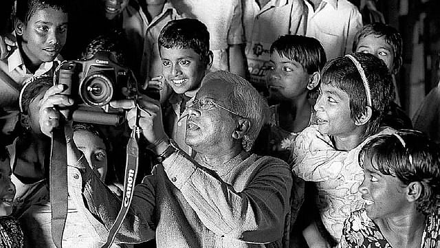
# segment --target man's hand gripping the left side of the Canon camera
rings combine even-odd
[[[43,100],[41,101],[40,111],[39,111],[39,124],[41,132],[45,135],[52,137],[52,130],[67,120],[66,112],[60,111],[55,106],[64,109],[67,106],[72,106],[74,100],[69,98],[68,95],[63,95],[65,85],[58,84],[50,87],[44,94]],[[63,112],[63,113],[62,113]],[[66,122],[71,123],[71,122]],[[66,133],[68,135],[68,133]]]

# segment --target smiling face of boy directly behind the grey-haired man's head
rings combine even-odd
[[[208,66],[193,49],[160,47],[162,74],[175,93],[197,89]]]

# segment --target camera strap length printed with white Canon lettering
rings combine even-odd
[[[139,109],[137,109],[139,111]],[[139,116],[139,115],[137,115]],[[125,166],[125,177],[124,177],[124,194],[122,195],[122,204],[119,210],[118,216],[116,217],[115,223],[111,226],[109,230],[109,236],[107,236],[107,242],[101,248],[110,247],[118,233],[122,221],[129,212],[129,207],[131,200],[133,198],[135,180],[137,177],[137,167],[139,165],[139,136],[141,129],[139,126],[135,126],[133,131],[131,131],[129,143],[126,145],[126,166]]]

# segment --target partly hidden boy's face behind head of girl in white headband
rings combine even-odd
[[[364,52],[373,54],[377,58],[384,61],[388,71],[393,73],[394,69],[394,50],[393,46],[388,44],[384,37],[378,37],[374,34],[370,34],[361,38],[355,52]]]

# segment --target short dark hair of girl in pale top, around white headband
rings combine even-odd
[[[359,61],[369,82],[373,114],[366,124],[364,137],[379,132],[380,122],[393,101],[393,79],[385,63],[372,54],[351,54]],[[349,95],[351,119],[365,113],[368,106],[366,89],[360,72],[347,56],[330,60],[322,69],[321,84],[331,84]]]

